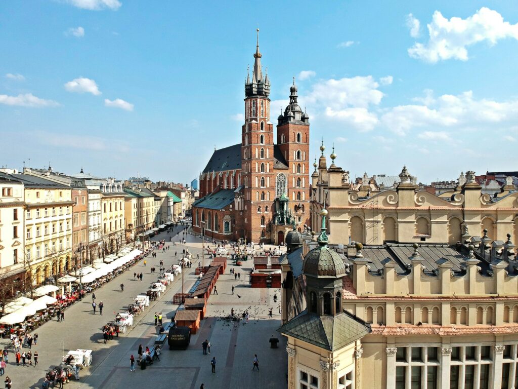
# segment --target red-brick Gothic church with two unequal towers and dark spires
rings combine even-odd
[[[244,85],[241,142],[214,150],[199,177],[192,224],[209,238],[282,244],[288,231],[309,225],[309,116],[297,103],[294,81],[274,143],[258,32],[252,76],[249,71]]]

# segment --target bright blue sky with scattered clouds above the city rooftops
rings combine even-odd
[[[295,76],[311,156],[516,170],[517,23],[513,1],[0,2],[0,165],[190,183],[240,141],[259,26],[273,122]]]

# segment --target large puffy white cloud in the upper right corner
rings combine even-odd
[[[435,11],[427,26],[428,42],[415,43],[408,49],[408,54],[430,63],[448,59],[467,61],[468,46],[482,41],[495,45],[503,38],[518,39],[518,23],[504,22],[500,13],[486,7],[466,19],[447,19],[440,11]]]

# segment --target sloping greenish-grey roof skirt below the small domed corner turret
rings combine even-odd
[[[278,329],[281,334],[335,351],[369,334],[370,326],[350,314],[319,316],[307,310]]]

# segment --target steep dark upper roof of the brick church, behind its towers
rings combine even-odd
[[[241,169],[241,144],[214,150],[202,173]],[[274,169],[289,169],[282,151],[274,145]]]

